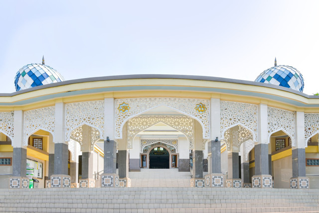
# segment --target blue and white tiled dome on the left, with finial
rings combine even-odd
[[[15,90],[19,91],[44,84],[56,83],[64,81],[60,73],[52,67],[42,64],[28,64],[23,66],[16,73],[14,78]]]

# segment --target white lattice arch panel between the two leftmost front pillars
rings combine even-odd
[[[28,144],[28,138],[38,130],[45,130],[54,138],[55,106],[32,109],[24,112],[23,143]]]

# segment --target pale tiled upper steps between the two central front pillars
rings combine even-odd
[[[190,187],[190,172],[178,172],[178,169],[141,169],[141,172],[129,172],[129,178],[132,187]]]

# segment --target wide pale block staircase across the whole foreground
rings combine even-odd
[[[166,187],[0,189],[0,212],[319,213],[319,190]]]

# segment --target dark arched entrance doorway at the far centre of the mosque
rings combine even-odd
[[[169,169],[169,153],[163,147],[155,147],[150,152],[150,169]]]

